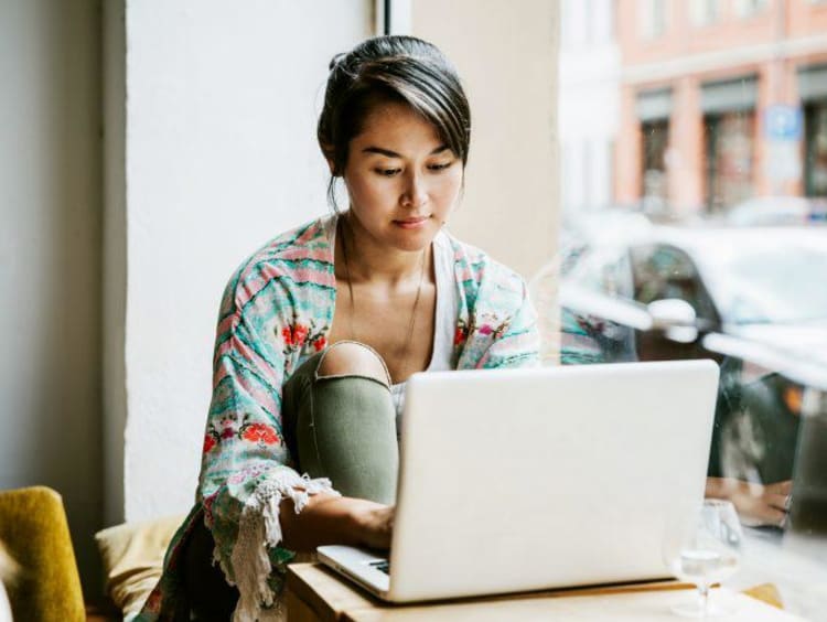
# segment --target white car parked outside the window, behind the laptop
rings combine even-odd
[[[792,478],[802,396],[827,392],[827,229],[600,214],[567,229],[557,267],[563,362],[716,360],[709,474]]]

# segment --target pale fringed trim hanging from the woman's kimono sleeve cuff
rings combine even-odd
[[[238,538],[233,547],[233,569],[239,599],[233,622],[282,621],[286,612],[281,599],[275,600],[267,578],[272,571],[267,549],[281,541],[279,506],[291,498],[299,514],[310,495],[336,493],[327,479],[311,480],[294,471],[283,470],[262,481],[241,511]]]

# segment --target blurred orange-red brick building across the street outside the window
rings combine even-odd
[[[827,196],[827,0],[617,0],[619,204]]]

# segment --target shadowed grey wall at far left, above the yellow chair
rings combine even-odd
[[[103,480],[97,4],[0,2],[0,489],[63,495],[90,593]]]

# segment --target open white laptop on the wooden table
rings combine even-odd
[[[711,361],[416,374],[389,557],[319,559],[389,602],[666,578],[717,388]]]

